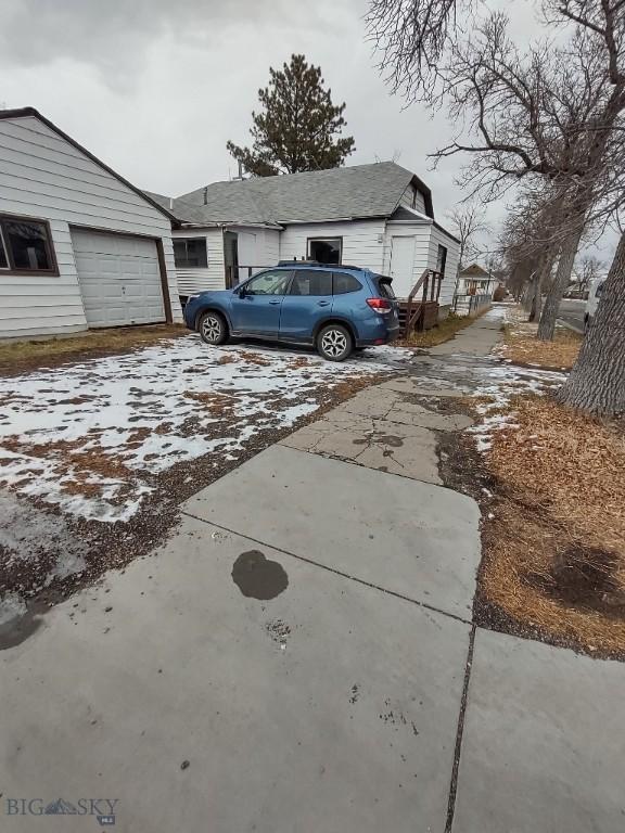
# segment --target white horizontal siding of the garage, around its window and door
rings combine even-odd
[[[0,336],[87,329],[71,226],[161,239],[174,320],[181,320],[169,219],[33,116],[0,119],[0,214],[48,220],[60,272],[0,271]]]

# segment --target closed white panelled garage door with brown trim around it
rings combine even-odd
[[[73,229],[72,242],[89,326],[165,321],[155,241]]]

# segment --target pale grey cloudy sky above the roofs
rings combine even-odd
[[[498,0],[522,42],[532,0]],[[135,184],[178,195],[228,179],[226,142],[247,143],[269,66],[303,52],[347,104],[348,164],[395,158],[462,198],[459,161],[428,154],[454,126],[390,95],[365,39],[367,0],[0,0],[0,106],[35,106]],[[505,205],[489,208],[496,227]]]

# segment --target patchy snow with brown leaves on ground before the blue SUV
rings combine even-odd
[[[128,521],[154,475],[209,452],[234,459],[264,430],[312,413],[328,389],[397,371],[410,350],[347,362],[199,336],[0,380],[0,485],[85,518]]]

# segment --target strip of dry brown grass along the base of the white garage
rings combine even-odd
[[[63,338],[31,339],[0,343],[0,370],[31,369],[56,359],[89,357],[149,347],[162,338],[177,338],[189,331],[182,324],[151,326],[119,326],[111,330],[89,330]]]

